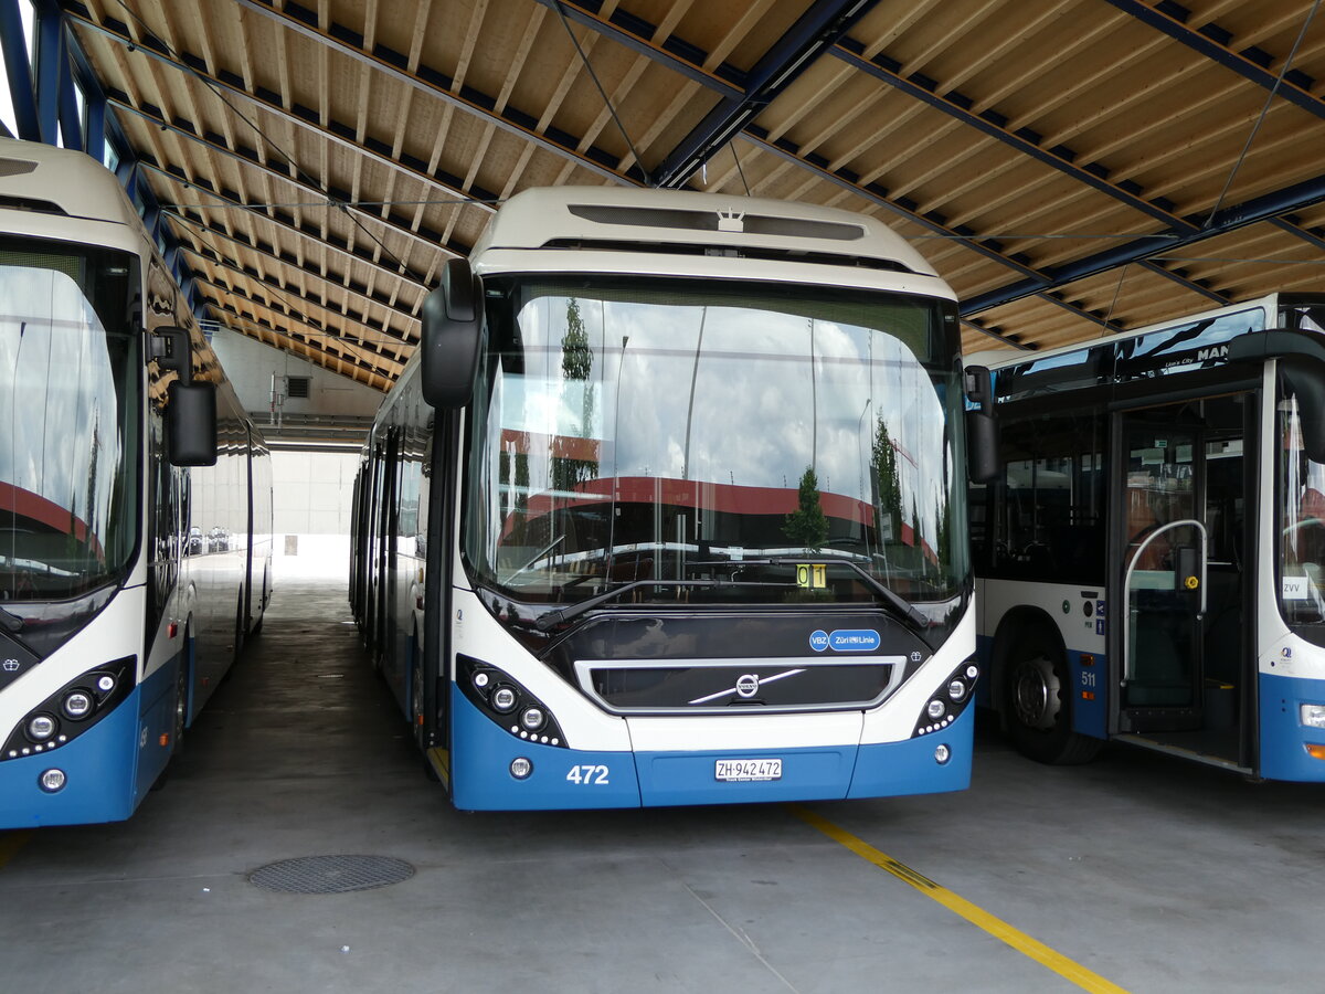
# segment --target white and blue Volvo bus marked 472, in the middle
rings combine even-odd
[[[901,239],[527,191],[423,323],[364,449],[350,600],[457,807],[969,785],[958,319]]]

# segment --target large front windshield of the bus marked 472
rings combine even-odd
[[[951,305],[716,280],[484,285],[462,539],[477,583],[545,604],[625,584],[688,603],[882,594],[943,615],[963,598]]]

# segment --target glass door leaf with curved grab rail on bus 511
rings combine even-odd
[[[1200,432],[1155,411],[1120,415],[1122,567],[1120,730],[1202,725],[1206,526]]]

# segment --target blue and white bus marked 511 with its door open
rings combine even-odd
[[[980,700],[1018,747],[1325,781],[1325,296],[990,368]]]

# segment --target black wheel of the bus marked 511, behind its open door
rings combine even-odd
[[[1008,655],[1004,713],[1018,751],[1036,762],[1069,766],[1089,762],[1104,742],[1072,730],[1067,661],[1053,639],[1027,632]]]

